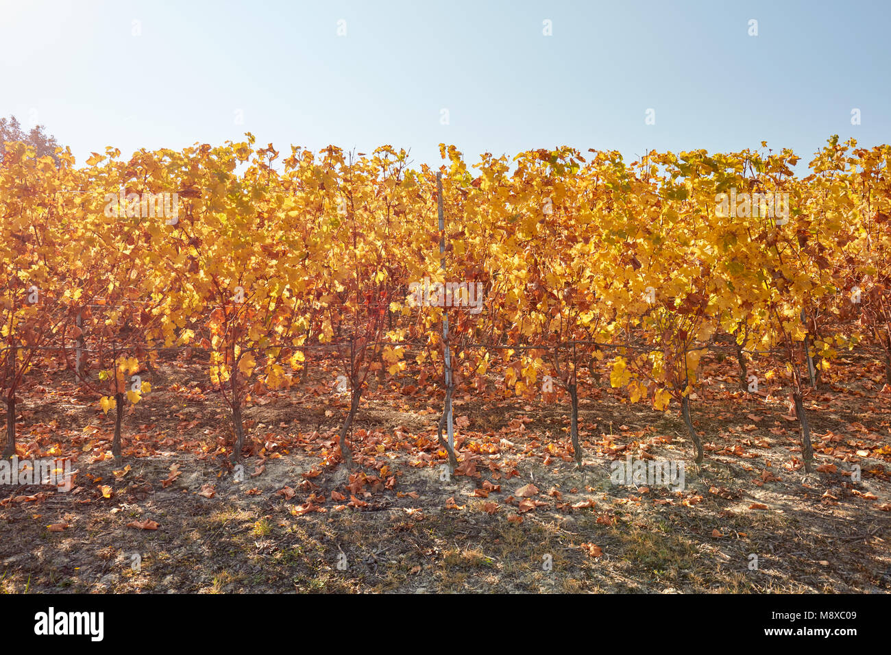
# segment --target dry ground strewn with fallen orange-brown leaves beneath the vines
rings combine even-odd
[[[878,364],[854,357],[809,398],[822,467],[812,474],[800,467],[785,390],[741,394],[729,364],[707,372],[694,403],[701,468],[676,411],[588,381],[578,469],[568,399],[505,398],[493,377],[487,392],[457,397],[467,474],[443,480],[443,394],[417,379],[372,381],[353,475],[336,462],[348,398],[332,393],[335,372],[318,365],[307,385],[254,398],[241,476],[225,459],[227,414],[199,363],[171,358],[160,369],[125,417],[122,463],[109,453],[113,417],[66,382],[69,372],[48,371],[24,394],[20,456],[77,457],[76,488],[3,490],[0,589],[887,592],[891,398],[878,392]],[[612,484],[609,463],[627,454],[684,460],[683,490]],[[517,495],[527,485],[538,493]],[[158,528],[127,525],[143,520]]]

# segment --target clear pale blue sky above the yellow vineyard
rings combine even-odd
[[[37,119],[78,162],[250,131],[416,163],[440,142],[476,161],[762,140],[806,163],[833,134],[891,142],[889,34],[891,2],[0,0],[0,115]]]

